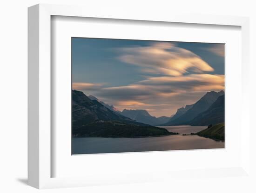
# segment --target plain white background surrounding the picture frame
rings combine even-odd
[[[81,4],[91,6],[95,11],[100,9],[128,9],[133,12],[189,12],[205,14],[222,14],[250,16],[250,62],[251,89],[255,90],[256,59],[256,6],[253,0],[181,0],[181,1],[87,1],[87,0],[6,0],[0,4],[0,191],[1,192],[37,192],[28,187],[27,183],[27,7],[37,3]],[[253,65],[254,64],[254,65]],[[256,98],[255,91],[251,99]],[[256,109],[255,101],[251,100],[251,109]],[[255,113],[252,114],[255,117]],[[252,119],[252,123],[253,122]],[[252,131],[256,136],[256,131]],[[256,174],[256,142],[251,141],[254,164],[251,169]],[[115,186],[66,188],[43,190],[45,192],[255,192],[253,186],[256,179],[247,178],[213,178],[200,180],[180,180],[126,184]]]

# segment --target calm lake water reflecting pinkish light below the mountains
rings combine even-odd
[[[205,126],[161,126],[168,131],[190,134],[205,129]],[[168,135],[141,138],[73,138],[73,154],[99,154],[118,152],[164,151],[184,149],[224,148],[224,142],[197,135]]]

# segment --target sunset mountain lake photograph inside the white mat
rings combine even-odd
[[[225,148],[225,44],[71,41],[72,154]]]

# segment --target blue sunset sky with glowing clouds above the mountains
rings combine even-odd
[[[72,38],[72,89],[120,111],[171,116],[224,90],[224,44]]]

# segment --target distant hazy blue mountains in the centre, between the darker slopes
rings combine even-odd
[[[161,116],[156,118],[155,116],[151,116],[147,110],[143,109],[136,109],[136,110],[128,110],[128,109],[123,109],[121,112],[121,115],[129,117],[136,122],[142,122],[148,125],[161,125],[165,122],[167,122],[170,117],[167,116]]]

